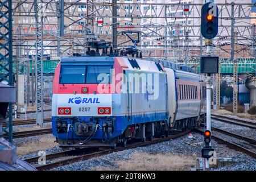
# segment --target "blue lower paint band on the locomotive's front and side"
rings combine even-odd
[[[67,133],[57,133],[57,127],[55,119],[60,117],[52,117],[52,133],[55,137],[59,139],[67,139]],[[76,117],[81,119],[82,121],[89,122],[90,117]],[[152,113],[152,114],[139,114],[139,115],[132,115],[131,121],[127,121],[127,116],[117,116],[112,117],[115,118],[114,121],[114,131],[112,133],[112,138],[118,137],[121,135],[128,125],[138,124],[138,123],[146,123],[146,122],[154,122],[154,121],[163,121],[168,119],[168,115],[166,113]],[[71,124],[71,119],[65,118],[68,124]],[[98,120],[100,126],[102,126],[102,122],[106,121],[106,118],[102,118]],[[72,138],[72,130],[69,130],[68,138]],[[102,138],[102,128],[100,127],[96,134],[94,135],[93,139],[101,139]],[[74,139],[84,139],[84,137],[77,137],[75,133],[73,133]]]

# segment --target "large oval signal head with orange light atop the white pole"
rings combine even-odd
[[[205,39],[213,39],[218,34],[218,7],[205,3],[201,9],[201,34]]]

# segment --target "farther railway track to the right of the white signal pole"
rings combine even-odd
[[[221,122],[226,122],[234,125],[249,127],[251,129],[256,129],[256,122],[246,121],[245,119],[230,118],[224,115],[216,115],[216,114],[212,114],[211,118]]]

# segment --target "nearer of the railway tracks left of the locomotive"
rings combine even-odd
[[[13,133],[13,138],[24,138],[24,137],[31,137],[36,135],[45,135],[51,134],[52,129],[39,129],[39,130],[28,130],[28,131],[18,131]],[[3,137],[7,137],[7,134],[3,134]]]

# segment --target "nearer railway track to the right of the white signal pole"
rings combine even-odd
[[[235,148],[236,150],[239,150],[245,154],[248,154],[256,159],[256,152],[255,152],[256,140],[255,139],[247,138],[242,135],[238,135],[238,134],[234,134],[234,133],[230,133],[229,131],[218,129],[216,127],[212,127],[212,130],[217,131],[218,133],[221,133],[224,135],[228,135],[229,137],[236,138],[238,140],[237,140],[237,142],[232,142],[228,139],[225,139],[224,137],[221,137],[221,135],[217,135],[217,133],[216,134],[212,133],[213,139],[217,140],[218,142],[226,144],[230,148]],[[204,130],[195,129],[195,131],[197,131],[201,134],[204,134]],[[239,141],[239,140],[241,140],[241,141]]]

